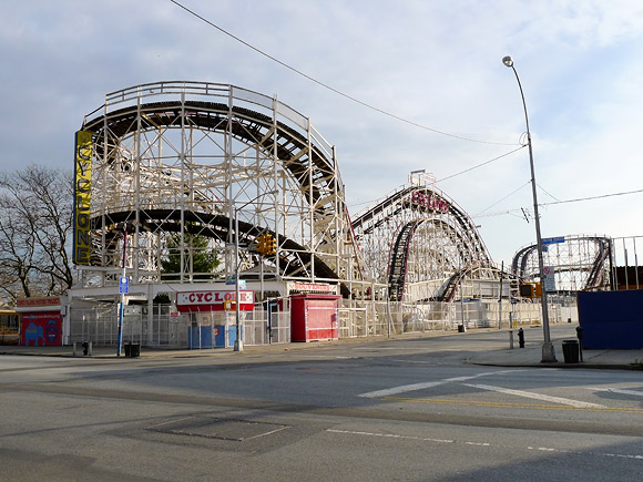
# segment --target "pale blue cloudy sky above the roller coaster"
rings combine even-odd
[[[233,84],[276,95],[336,146],[353,217],[426,170],[508,264],[535,243],[511,55],[542,236],[643,235],[643,192],[616,195],[643,189],[640,0],[181,3],[317,82],[170,0],[0,2],[0,171],[71,171],[73,134],[109,92]]]

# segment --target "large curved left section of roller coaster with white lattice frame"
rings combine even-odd
[[[307,117],[274,98],[205,82],[136,85],[105,99],[81,127],[93,134],[96,161],[91,265],[114,263],[119,233],[110,226],[122,222],[136,222],[139,233],[184,232],[227,244],[235,219],[224,211],[274,191],[274,208],[257,201],[254,224],[238,219],[242,248],[272,234],[277,276],[336,281],[344,296],[349,283],[363,279],[334,147]],[[248,166],[246,152],[254,157]],[[290,235],[275,233],[290,219]],[[131,263],[154,273],[157,242],[140,239],[134,254],[142,260]],[[262,263],[243,256],[248,265]],[[223,259],[226,273],[234,270],[231,259]]]

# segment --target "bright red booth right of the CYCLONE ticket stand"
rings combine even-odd
[[[290,340],[316,341],[339,338],[339,295],[300,294],[290,296]]]

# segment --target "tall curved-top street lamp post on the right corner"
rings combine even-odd
[[[542,260],[542,237],[540,235],[540,216],[538,214],[538,195],[535,192],[535,172],[533,170],[533,152],[531,148],[531,133],[529,132],[529,117],[527,116],[527,103],[524,102],[524,93],[522,92],[522,84],[518,76],[518,71],[513,66],[513,59],[507,55],[502,59],[502,63],[513,70],[518,88],[520,89],[520,96],[522,98],[522,107],[524,109],[524,123],[527,125],[527,145],[529,147],[529,165],[531,167],[531,193],[533,196],[533,216],[535,217],[535,244],[538,249],[538,270],[541,283],[541,305],[542,305],[542,332],[544,341],[542,343],[542,362],[557,361],[553,345],[551,342],[549,332],[549,311],[547,309],[547,290],[544,289],[544,264]]]

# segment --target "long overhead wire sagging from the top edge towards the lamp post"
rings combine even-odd
[[[305,73],[305,72],[303,72],[303,71],[300,71],[300,70],[298,70],[298,69],[296,69],[296,68],[294,68],[294,66],[292,66],[292,65],[287,64],[286,62],[283,62],[282,60],[277,59],[276,57],[274,57],[274,55],[271,55],[269,53],[266,53],[266,52],[264,52],[263,50],[261,50],[261,49],[258,49],[258,48],[254,47],[253,44],[251,44],[251,43],[246,42],[245,40],[243,40],[243,39],[241,39],[241,38],[238,38],[238,37],[236,37],[235,34],[233,34],[233,33],[228,32],[227,30],[224,30],[223,28],[218,27],[217,24],[215,24],[214,22],[212,22],[212,21],[207,20],[206,18],[204,18],[204,17],[200,16],[198,13],[196,13],[195,11],[193,11],[193,10],[188,9],[187,7],[185,7],[184,4],[180,3],[178,1],[176,1],[176,0],[170,0],[170,1],[171,1],[172,3],[174,3],[176,7],[178,7],[178,8],[183,9],[183,10],[185,10],[185,11],[186,11],[187,13],[190,13],[191,16],[194,16],[195,18],[197,18],[198,20],[201,20],[202,22],[205,22],[205,23],[207,23],[210,27],[212,27],[212,28],[214,28],[214,29],[218,30],[220,32],[222,32],[222,33],[224,33],[224,34],[228,35],[229,38],[232,38],[232,39],[236,40],[237,42],[239,42],[239,43],[243,43],[243,44],[244,44],[245,47],[247,47],[248,49],[252,49],[252,50],[254,50],[254,51],[255,51],[255,52],[257,52],[259,55],[264,55],[265,58],[267,58],[267,59],[272,60],[273,62],[276,62],[276,63],[278,63],[279,65],[282,65],[282,66],[284,66],[284,68],[286,68],[286,69],[288,69],[288,70],[290,70],[290,71],[295,72],[296,74],[298,74],[298,75],[300,75],[300,76],[303,76],[303,78],[305,78],[305,79],[309,80],[310,82],[314,82],[314,83],[316,83],[317,85],[320,85],[320,86],[323,86],[324,89],[327,89],[327,90],[329,90],[330,92],[334,92],[334,93],[336,93],[337,95],[341,95],[343,98],[345,98],[345,99],[348,99],[349,101],[353,101],[353,102],[355,102],[355,103],[357,103],[357,104],[359,104],[359,105],[361,105],[361,106],[364,106],[364,107],[370,109],[371,111],[379,112],[380,114],[387,115],[387,116],[389,116],[389,117],[391,117],[391,119],[395,119],[396,121],[404,122],[404,123],[406,123],[406,124],[409,124],[409,125],[412,125],[412,126],[415,126],[415,127],[419,127],[419,129],[422,129],[422,130],[425,130],[425,131],[430,131],[430,132],[432,132],[432,133],[435,133],[435,134],[440,134],[440,135],[446,135],[446,136],[448,136],[448,137],[458,139],[458,140],[460,140],[460,141],[474,142],[474,143],[479,143],[479,144],[493,144],[493,145],[516,145],[516,144],[511,144],[511,143],[503,143],[503,142],[480,141],[480,140],[477,140],[477,139],[470,139],[470,137],[465,137],[465,136],[461,136],[461,135],[450,134],[450,133],[448,133],[448,132],[439,131],[439,130],[437,130],[437,129],[432,129],[432,127],[429,127],[429,126],[427,126],[427,125],[420,124],[420,123],[418,123],[418,122],[414,122],[414,121],[410,121],[410,120],[408,120],[408,119],[401,117],[401,116],[399,116],[399,115],[392,114],[392,113],[390,113],[390,112],[387,112],[387,111],[385,111],[384,109],[376,107],[375,105],[371,105],[371,104],[369,104],[369,103],[367,103],[367,102],[360,101],[359,99],[357,99],[357,98],[354,98],[353,95],[349,95],[349,94],[347,94],[347,93],[344,93],[344,92],[339,91],[338,89],[335,89],[334,86],[331,86],[331,85],[329,85],[329,84],[327,84],[327,83],[324,83],[324,82],[322,82],[322,81],[319,81],[319,80],[315,79],[314,76],[312,76],[312,75],[308,75],[307,73]]]

